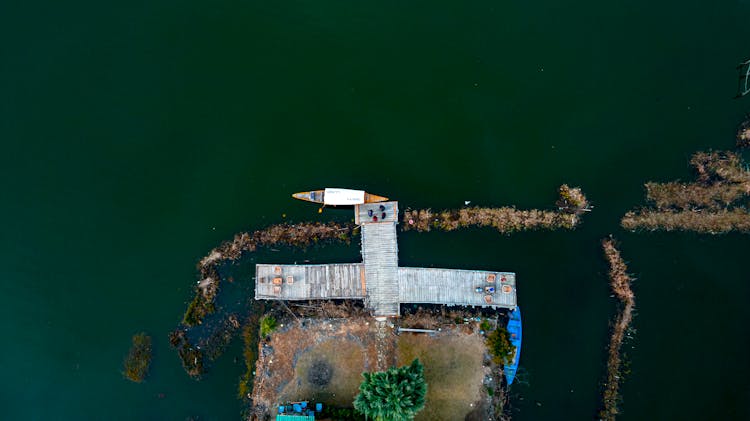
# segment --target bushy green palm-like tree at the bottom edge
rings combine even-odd
[[[424,408],[427,383],[418,359],[388,371],[362,373],[354,408],[376,421],[411,420]]]

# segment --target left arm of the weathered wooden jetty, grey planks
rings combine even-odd
[[[364,299],[362,263],[255,265],[255,299]],[[292,277],[291,279],[289,277]],[[281,285],[278,285],[281,278]],[[274,279],[277,283],[274,284]],[[292,281],[291,283],[289,281]],[[281,286],[280,290],[274,287]]]

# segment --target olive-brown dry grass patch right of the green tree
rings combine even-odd
[[[414,358],[424,364],[427,403],[416,420],[462,420],[483,397],[483,337],[459,330],[436,337],[402,333],[397,353],[398,365]]]

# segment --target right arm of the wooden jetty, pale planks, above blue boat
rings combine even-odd
[[[495,281],[488,282],[494,274]],[[502,279],[505,278],[505,281]],[[505,286],[507,292],[503,292]],[[476,288],[482,289],[481,293]],[[494,287],[495,292],[485,292]],[[399,268],[399,301],[402,303],[446,304],[478,307],[516,306],[516,275],[510,272],[493,272],[459,269]],[[490,302],[485,301],[490,297]]]

